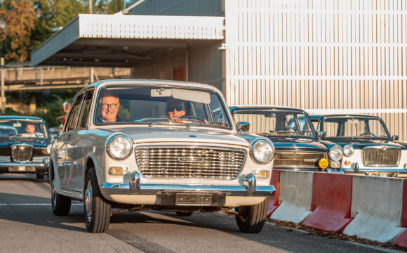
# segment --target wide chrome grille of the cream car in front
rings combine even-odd
[[[151,179],[235,179],[243,167],[244,150],[191,147],[142,147],[135,158]]]

